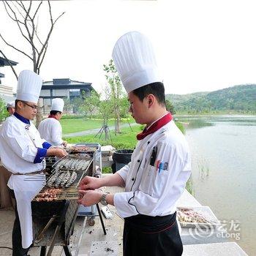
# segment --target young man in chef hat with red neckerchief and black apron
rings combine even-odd
[[[78,203],[116,206],[124,218],[124,256],[181,255],[176,202],[191,173],[189,148],[165,108],[165,88],[151,42],[138,31],[124,34],[113,48],[113,60],[128,94],[129,111],[146,128],[129,164],[104,178],[86,176]],[[102,186],[124,186],[104,194]]]

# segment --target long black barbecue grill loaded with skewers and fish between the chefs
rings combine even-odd
[[[83,150],[79,150],[79,147]],[[50,246],[47,256],[51,255],[54,246],[63,246],[65,255],[71,256],[69,238],[78,215],[78,184],[84,176],[101,175],[100,146],[99,144],[78,144],[76,150],[70,150],[66,157],[53,163],[51,169],[45,187],[31,202],[34,246],[41,246],[40,256],[46,255],[47,246]],[[69,187],[49,188],[48,181],[57,171],[66,173],[72,171],[77,176]],[[48,197],[47,192],[51,191],[57,191],[57,193]],[[97,208],[105,233],[99,206]]]

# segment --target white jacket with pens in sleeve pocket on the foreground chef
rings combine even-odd
[[[191,174],[187,141],[174,121],[138,141],[131,162],[117,173],[125,182],[125,192],[114,195],[121,217],[173,214]]]

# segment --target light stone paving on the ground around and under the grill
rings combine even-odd
[[[106,192],[118,192],[121,188],[112,187],[106,188]],[[100,206],[100,205],[99,205]],[[104,235],[102,225],[99,222],[99,217],[95,217],[94,226],[86,222],[87,217],[78,217],[75,224],[75,229],[70,238],[70,249],[72,255],[122,255],[122,233],[123,233],[123,219],[118,217],[116,209],[109,206],[113,213],[113,219],[104,219],[105,229],[107,235]],[[11,256],[11,249],[4,249],[4,247],[12,247],[12,225],[15,219],[15,214],[12,209],[0,210],[0,255]],[[33,247],[29,250],[29,255],[39,255],[40,248]],[[111,254],[110,254],[111,253]],[[64,256],[61,246],[55,246],[53,249],[53,256]]]

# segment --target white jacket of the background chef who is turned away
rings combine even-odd
[[[45,118],[42,120],[38,126],[38,131],[41,138],[44,138],[53,146],[61,146],[63,143],[62,127],[55,118]]]

